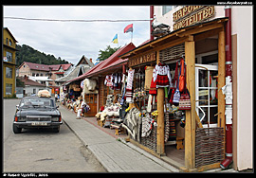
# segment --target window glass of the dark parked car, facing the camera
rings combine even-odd
[[[53,99],[50,98],[23,98],[20,107],[25,108],[52,108]]]

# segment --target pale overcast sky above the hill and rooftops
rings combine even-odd
[[[149,19],[149,6],[4,6],[4,17],[44,19]],[[119,45],[131,42],[131,32],[124,27],[134,24],[133,43],[140,45],[150,38],[149,22],[46,22],[4,19],[18,41],[46,54],[76,64],[82,58],[98,58],[99,50],[111,43],[118,33]]]

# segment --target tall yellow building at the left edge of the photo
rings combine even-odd
[[[3,29],[3,89],[4,98],[10,97],[15,94],[15,53],[17,41],[10,33],[8,27]]]

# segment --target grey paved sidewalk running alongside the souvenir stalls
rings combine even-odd
[[[128,144],[118,141],[113,136],[102,132],[84,119],[60,106],[64,122],[92,151],[108,172],[178,172],[155,156],[139,151]],[[61,131],[62,132],[62,131]]]

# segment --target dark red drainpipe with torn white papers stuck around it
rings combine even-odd
[[[225,7],[225,16],[229,17],[226,25],[226,85],[222,88],[226,95],[226,159],[220,164],[227,169],[232,164],[232,54],[231,54],[231,7]]]

